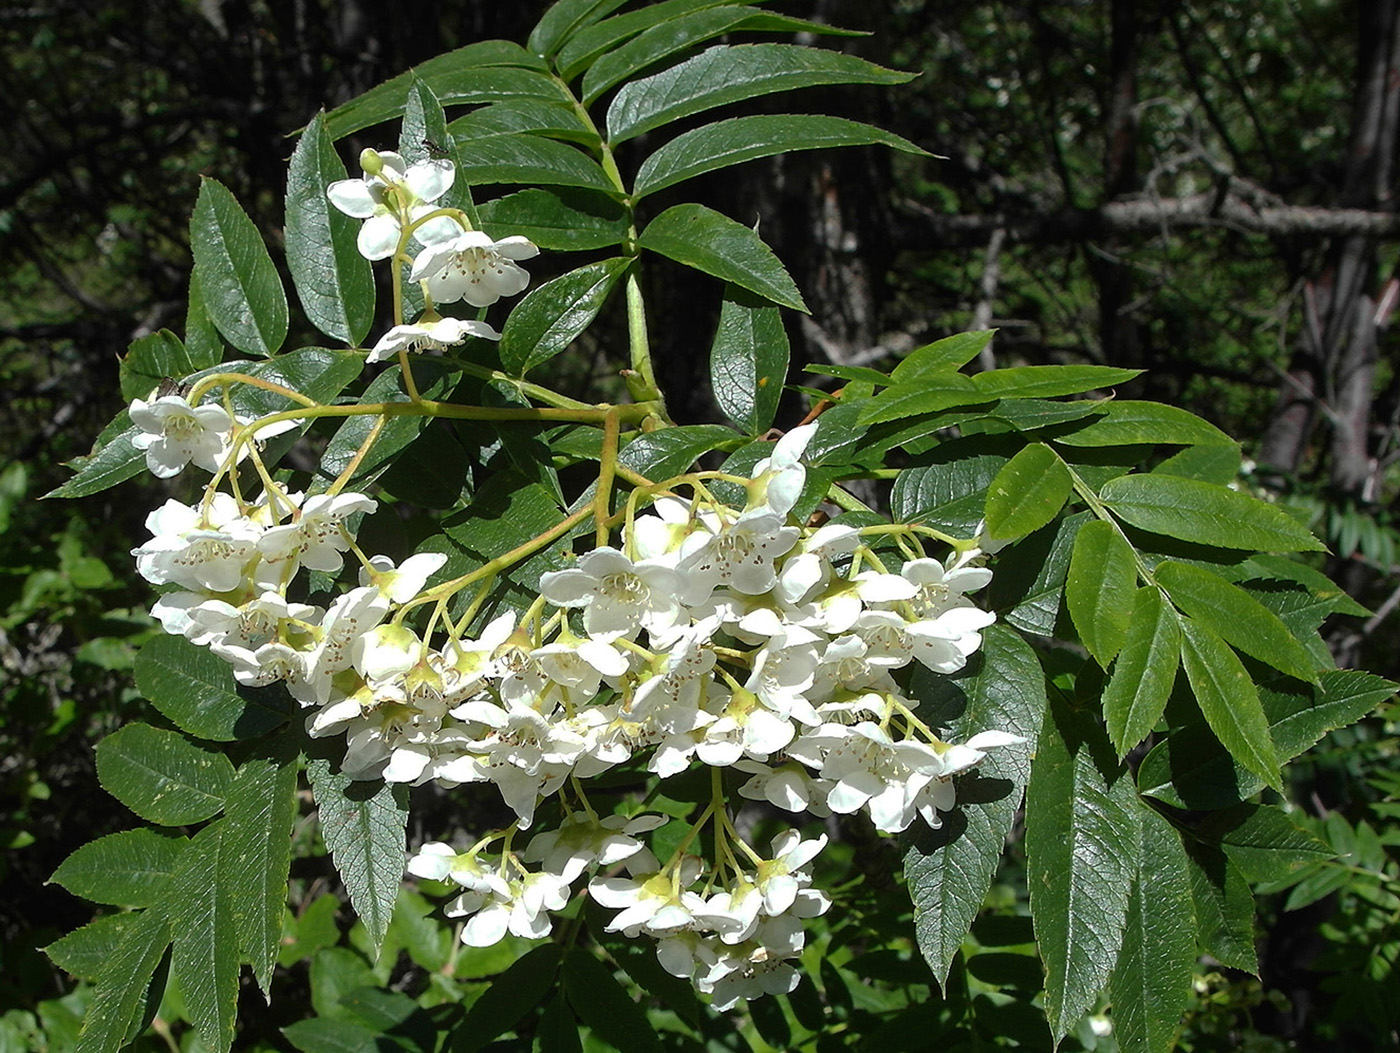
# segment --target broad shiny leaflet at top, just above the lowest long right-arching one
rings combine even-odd
[[[616,144],[729,102],[820,84],[903,84],[911,73],[854,55],[791,43],[717,45],[679,66],[626,84],[608,106]]]

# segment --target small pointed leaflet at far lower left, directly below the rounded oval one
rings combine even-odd
[[[186,843],[150,829],[109,833],[69,856],[49,881],[94,903],[155,906],[169,895],[175,863]]]

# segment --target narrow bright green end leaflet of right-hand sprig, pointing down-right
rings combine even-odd
[[[1205,723],[1231,755],[1275,790],[1278,756],[1259,689],[1229,646],[1205,626],[1182,622],[1182,667]]]

